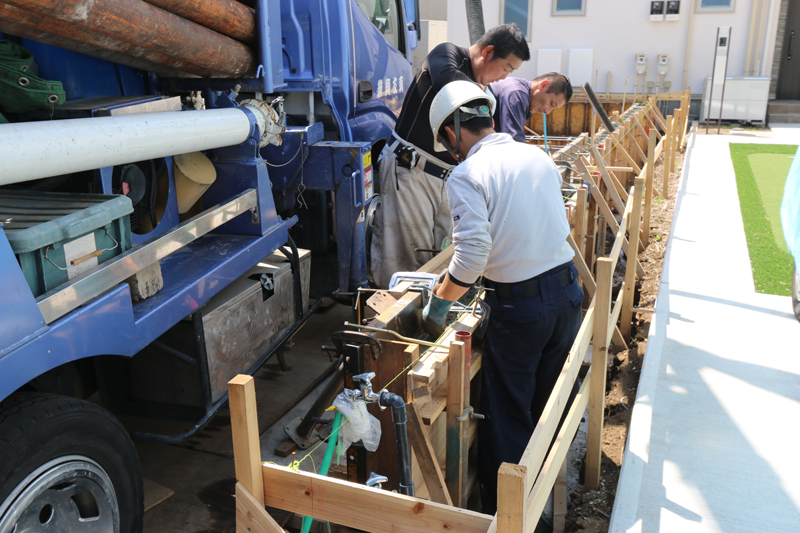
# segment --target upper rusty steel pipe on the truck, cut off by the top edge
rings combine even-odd
[[[255,45],[256,13],[233,0],[145,0],[231,39]]]

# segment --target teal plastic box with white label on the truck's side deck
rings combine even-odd
[[[131,247],[129,198],[0,191],[0,222],[34,296]]]

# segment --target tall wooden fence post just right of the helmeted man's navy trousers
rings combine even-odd
[[[589,432],[586,442],[586,485],[600,486],[600,464],[603,452],[603,415],[608,371],[608,323],[611,314],[611,277],[613,260],[597,260],[597,292],[592,335],[592,373],[589,382]]]

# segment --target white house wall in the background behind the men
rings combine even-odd
[[[698,2],[700,0],[694,0]],[[686,85],[693,94],[702,92],[703,79],[711,75],[714,61],[715,37],[718,26],[731,26],[731,49],[728,76],[743,76],[747,41],[753,2],[757,0],[735,0],[732,13],[691,13],[692,0],[681,2],[680,20],[677,22],[650,22],[650,2],[646,0],[586,0],[585,16],[551,16],[551,0],[530,0],[528,31],[532,39],[531,60],[514,73],[514,76],[531,78],[537,71],[539,48],[562,49],[562,72],[569,69],[569,50],[593,48],[594,68],[597,70],[595,90],[607,90],[606,77],[611,72],[610,92],[633,92],[636,80],[634,57],[647,54],[647,80],[655,81],[656,58],[669,54],[669,72],[664,79],[672,82],[670,90],[683,88],[684,66],[688,65]],[[775,47],[780,0],[768,2],[767,22],[762,31],[762,57],[759,76],[770,76]],[[447,0],[448,40],[460,46],[469,45],[466,8],[464,0]],[[500,23],[500,0],[483,0],[483,15],[486,28]],[[691,34],[689,21],[693,18]],[[758,39],[756,31],[755,39]],[[688,62],[687,41],[689,42]]]

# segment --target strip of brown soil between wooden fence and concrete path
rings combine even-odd
[[[661,279],[661,268],[667,249],[672,215],[675,209],[675,196],[678,190],[680,169],[683,157],[676,170],[669,176],[669,198],[653,198],[650,216],[650,242],[639,261],[645,276],[637,286],[634,306],[640,309],[653,309]],[[656,162],[655,183],[661,188],[663,180],[663,156]],[[571,494],[567,511],[567,532],[606,533],[614,506],[622,456],[631,420],[631,408],[636,399],[643,358],[646,357],[647,335],[650,330],[651,313],[639,312],[633,315],[629,349],[613,354],[609,365],[606,393],[606,417],[603,430],[603,461],[600,488],[589,490],[581,485]],[[613,347],[612,347],[613,352]]]

